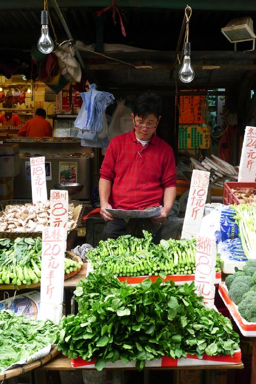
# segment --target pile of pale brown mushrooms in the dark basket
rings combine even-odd
[[[74,204],[68,204],[68,231],[75,224]],[[50,202],[6,205],[0,213],[0,232],[42,232],[49,225]]]

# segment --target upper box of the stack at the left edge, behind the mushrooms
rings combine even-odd
[[[19,146],[14,143],[0,144],[0,178],[14,177],[19,173]]]

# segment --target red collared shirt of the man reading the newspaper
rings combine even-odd
[[[124,133],[109,143],[100,174],[112,182],[108,202],[113,208],[159,206],[163,204],[163,190],[176,185],[173,150],[156,135],[143,147],[134,131]]]

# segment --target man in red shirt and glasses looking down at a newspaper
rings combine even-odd
[[[140,95],[132,116],[134,130],[112,139],[100,169],[101,216],[106,221],[102,238],[127,233],[142,236],[142,230],[147,229],[157,243],[176,197],[175,159],[172,148],[155,135],[161,118],[160,97]],[[163,206],[159,216],[136,220],[132,226],[134,219],[127,223],[105,210],[144,210],[159,205]]]

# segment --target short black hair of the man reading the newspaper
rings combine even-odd
[[[160,96],[154,92],[145,92],[137,97],[134,104],[134,116],[145,118],[150,114],[154,114],[157,118],[161,115],[162,102]]]

